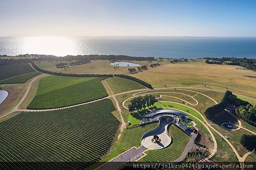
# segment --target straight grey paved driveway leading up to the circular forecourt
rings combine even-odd
[[[116,168],[120,167],[121,165],[128,162],[130,159],[134,158],[135,156],[139,155],[143,151],[147,150],[146,147],[141,146],[139,148],[132,148],[131,150],[122,153],[122,155],[116,157],[110,162],[107,162],[103,166],[99,167],[97,170],[115,170]]]

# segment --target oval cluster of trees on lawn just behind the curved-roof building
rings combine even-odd
[[[131,104],[128,105],[130,112],[139,111],[146,107],[152,107],[157,99],[153,95],[138,96],[131,99]]]

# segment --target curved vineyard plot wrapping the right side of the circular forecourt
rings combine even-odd
[[[169,162],[178,159],[188,144],[190,137],[175,125],[169,127],[172,143],[169,147],[161,150],[146,151],[146,156],[140,161],[144,162]]]

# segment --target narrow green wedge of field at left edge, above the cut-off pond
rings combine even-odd
[[[19,76],[11,77],[9,79],[5,79],[0,81],[0,84],[12,84],[12,83],[24,83],[31,79],[32,77],[37,76],[38,74],[41,74],[40,72],[32,72],[32,73],[27,73],[27,74],[22,74]]]

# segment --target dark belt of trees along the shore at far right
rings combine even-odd
[[[222,57],[222,58],[209,58],[206,57],[205,62],[207,64],[227,64],[227,65],[240,65],[244,68],[248,68],[256,71],[256,59],[247,59],[247,58],[235,58],[235,57]],[[211,60],[211,61],[210,61]],[[230,62],[227,62],[230,61]]]

